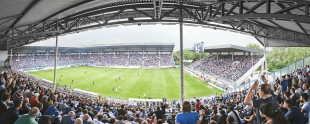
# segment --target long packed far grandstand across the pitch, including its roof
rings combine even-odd
[[[97,47],[60,47],[57,66],[173,67],[173,44],[128,44]],[[31,50],[31,51],[29,51]],[[41,70],[54,66],[52,47],[28,46],[15,52],[12,67]]]

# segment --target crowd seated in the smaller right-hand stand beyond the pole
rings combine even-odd
[[[259,59],[260,55],[219,55],[207,56],[191,64],[189,68],[219,76],[228,80],[237,80],[246,73]],[[253,65],[252,65],[253,64]]]

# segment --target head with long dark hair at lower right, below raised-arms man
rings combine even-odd
[[[287,124],[287,120],[281,110],[275,109],[272,103],[263,103],[259,107],[260,115],[267,120],[273,121],[274,124]]]

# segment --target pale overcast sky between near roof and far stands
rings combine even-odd
[[[194,43],[203,41],[204,46],[233,44],[247,46],[260,43],[252,36],[203,28],[201,26],[184,26],[184,49],[193,48]],[[59,36],[59,47],[84,47],[126,43],[174,43],[174,50],[179,50],[179,25],[131,25],[103,27],[79,33]],[[30,46],[55,46],[55,38],[39,41]],[[261,46],[262,47],[262,46]]]

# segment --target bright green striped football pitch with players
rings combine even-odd
[[[53,70],[29,72],[53,81]],[[139,75],[140,73],[140,75]],[[73,80],[73,82],[72,82]],[[96,92],[115,98],[179,99],[180,69],[136,69],[105,67],[71,67],[57,70],[59,85]],[[117,92],[112,89],[117,88]],[[185,98],[222,93],[206,82],[184,73]]]

